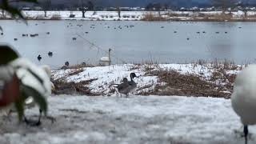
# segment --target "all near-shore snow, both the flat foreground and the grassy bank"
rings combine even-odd
[[[241,68],[241,67],[240,67]],[[240,70],[226,70],[237,74]],[[17,115],[0,117],[1,144],[71,144],[71,143],[230,143],[241,144],[243,126],[232,110],[230,99],[186,96],[142,96],[138,89],[158,83],[148,70],[176,70],[208,79],[215,72],[199,64],[124,64],[53,70],[52,78],[66,82],[90,82],[88,87],[104,96],[52,95],[48,98],[51,122],[42,118],[42,126],[18,124]],[[138,88],[128,98],[108,94],[111,84],[129,77],[131,72]],[[73,73],[73,74],[72,74]],[[162,83],[164,85],[164,83]],[[228,91],[230,92],[230,91]],[[137,94],[137,95],[135,95]],[[108,96],[107,96],[108,95]],[[26,110],[27,118],[38,118],[38,108]],[[256,127],[250,126],[250,143],[256,142]]]

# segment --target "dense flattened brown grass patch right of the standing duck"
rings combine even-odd
[[[166,86],[156,86],[154,93],[158,95],[186,95],[196,97],[229,98],[224,93],[225,86],[219,86],[204,80],[195,74],[179,74],[176,70],[160,70],[159,82],[166,82]]]

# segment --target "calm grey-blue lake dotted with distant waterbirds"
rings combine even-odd
[[[98,63],[109,48],[113,49],[115,63],[145,60],[179,63],[199,58],[226,58],[244,63],[254,62],[256,53],[254,22],[63,20],[28,21],[26,25],[2,20],[0,26],[4,30],[0,42],[9,43],[34,62],[38,62],[37,56],[41,54],[40,63],[53,67],[62,66],[66,61]],[[38,37],[22,37],[22,34],[38,34]],[[52,58],[48,57],[48,51],[54,53]]]

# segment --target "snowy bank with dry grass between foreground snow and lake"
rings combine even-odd
[[[215,66],[216,65],[216,66]],[[172,83],[174,86],[169,85],[170,81],[178,81],[182,76],[191,78],[195,86],[202,81],[201,85],[210,85],[210,90],[216,90],[218,93],[214,95],[204,94],[203,96],[215,96],[225,93],[227,98],[233,90],[233,82],[235,75],[242,66],[238,65],[222,65],[222,64],[124,64],[112,66],[95,66],[95,67],[82,67],[67,70],[54,70],[52,71],[52,78],[54,80],[61,79],[62,82],[81,83],[86,86],[90,92],[102,95],[115,95],[114,84],[122,81],[122,78],[130,79],[130,73],[136,73],[139,78],[134,78],[138,83],[137,89],[133,94],[157,94],[155,91],[169,86],[170,89],[181,90],[183,87],[177,87],[178,83]],[[190,79],[182,78],[182,81],[189,82]],[[168,81],[168,79],[170,79]],[[197,80],[197,81],[195,81]],[[193,83],[190,83],[193,85]],[[156,88],[157,87],[157,88]],[[157,90],[156,90],[157,89]],[[190,87],[184,87],[190,89]],[[198,89],[203,89],[199,86]],[[209,90],[206,90],[209,91]],[[182,93],[178,95],[191,95],[187,94],[186,90],[181,90]],[[66,93],[65,93],[66,94]],[[69,93],[70,94],[70,93]],[[172,93],[170,95],[176,95]],[[197,95],[195,96],[202,96]],[[212,94],[212,93],[210,93]],[[224,94],[224,95],[225,95]],[[160,94],[162,95],[162,94]],[[221,94],[220,94],[221,95]]]

